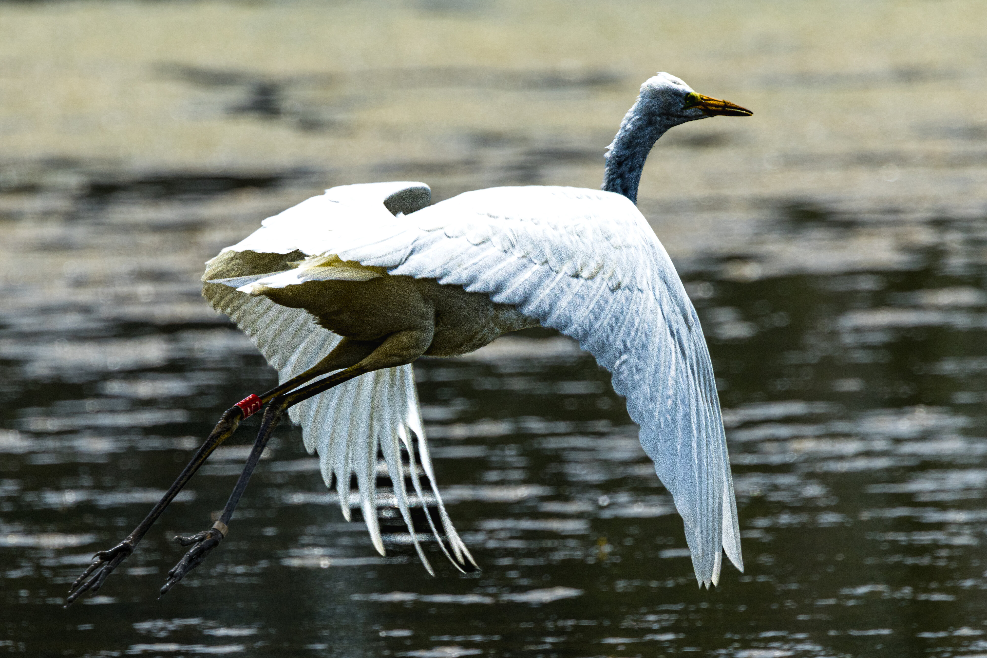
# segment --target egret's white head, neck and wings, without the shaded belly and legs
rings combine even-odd
[[[717,113],[750,112],[701,97],[667,74],[647,81],[608,155],[604,186],[613,191],[494,187],[429,206],[424,183],[333,187],[267,218],[223,250],[217,257],[239,253],[248,265],[244,271],[252,273],[211,280],[203,294],[254,339],[281,382],[311,368],[340,340],[304,310],[278,306],[262,294],[306,281],[435,279],[511,305],[577,339],[612,373],[614,390],[641,425],[645,452],[684,521],[697,579],[716,584],[721,548],[737,568],[743,566],[713,369],[696,312],[633,199],[654,140],[672,125]],[[269,259],[264,255],[296,253],[308,257],[258,273],[257,263]],[[472,561],[434,486],[411,365],[362,375],[290,413],[303,427],[308,450],[318,453],[327,484],[335,476],[341,487],[346,518],[345,488],[355,473],[378,550],[383,553],[374,513],[378,446],[411,529],[400,443],[412,460],[418,500],[423,492],[416,460],[432,484],[453,555]],[[416,547],[431,570],[417,541]]]

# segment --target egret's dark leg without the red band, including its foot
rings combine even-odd
[[[161,596],[164,596],[186,574],[201,564],[202,560],[206,558],[212,549],[218,547],[223,541],[223,538],[226,537],[229,531],[230,519],[233,518],[233,511],[236,509],[237,503],[240,502],[240,496],[243,495],[244,489],[247,488],[250,476],[254,473],[257,463],[261,459],[261,454],[264,452],[264,447],[270,439],[274,427],[280,422],[282,414],[289,406],[294,406],[298,402],[308,400],[313,396],[317,396],[365,373],[410,363],[420,356],[430,342],[430,330],[426,334],[421,331],[412,330],[393,333],[380,345],[379,349],[375,350],[356,365],[350,366],[335,375],[330,375],[314,384],[309,384],[297,391],[278,396],[271,401],[264,411],[264,419],[261,422],[261,430],[258,432],[257,440],[254,442],[254,449],[251,450],[250,457],[247,458],[247,464],[237,479],[237,484],[233,488],[233,493],[230,494],[229,500],[226,502],[226,507],[223,508],[223,513],[219,517],[219,521],[214,523],[209,530],[191,535],[190,537],[175,538],[182,546],[192,545],[192,548],[179,560],[175,568],[168,572],[168,579],[161,588]]]

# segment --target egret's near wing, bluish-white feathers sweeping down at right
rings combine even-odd
[[[743,568],[706,341],[671,260],[630,200],[572,187],[494,187],[375,219],[372,231],[332,233],[311,253],[325,248],[391,274],[486,293],[576,338],[613,374],[641,425],[645,452],[682,515],[697,579],[718,582],[721,548]]]

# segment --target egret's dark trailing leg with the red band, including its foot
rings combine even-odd
[[[127,535],[114,548],[101,550],[93,556],[93,562],[82,572],[82,575],[75,579],[72,587],[69,588],[69,595],[65,600],[65,606],[71,606],[76,599],[86,592],[96,592],[103,586],[103,583],[113,573],[114,569],[134,551],[134,548],[144,538],[154,522],[158,520],[158,517],[162,515],[172,500],[175,499],[175,496],[189,482],[191,476],[195,475],[195,472],[198,471],[198,468],[202,466],[209,455],[233,435],[241,420],[251,413],[256,412],[261,405],[270,402],[274,398],[282,396],[320,375],[359,361],[372,352],[375,347],[377,347],[376,343],[343,339],[340,345],[329,356],[314,367],[288,380],[284,384],[274,387],[262,396],[251,396],[247,400],[239,402],[238,405],[227,409],[215,428],[209,433],[208,438],[199,446],[189,464],[186,465],[175,482],[168,488],[165,495],[161,497],[161,500],[151,509],[144,520],[140,522],[140,525],[134,528],[133,532]]]

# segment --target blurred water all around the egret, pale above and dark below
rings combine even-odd
[[[987,655],[985,25],[964,0],[0,4],[0,647]],[[640,198],[710,341],[745,573],[697,590],[606,373],[534,331],[416,364],[482,571],[427,576],[386,497],[378,556],[284,424],[156,601],[254,419],[60,607],[275,383],[205,259],[336,184],[597,187],[658,70],[754,111],[672,130]]]

